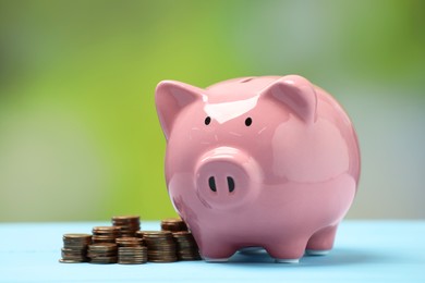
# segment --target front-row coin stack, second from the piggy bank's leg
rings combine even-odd
[[[175,243],[172,233],[169,231],[142,231],[147,246],[147,258],[151,262],[174,262],[178,260]]]

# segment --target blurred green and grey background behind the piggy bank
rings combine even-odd
[[[361,142],[349,218],[425,218],[425,1],[0,0],[0,221],[173,217],[154,90],[301,74]]]

